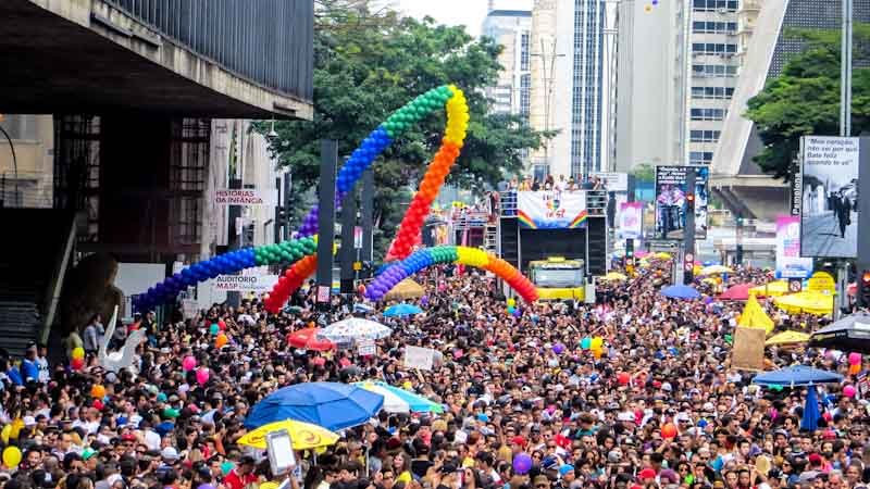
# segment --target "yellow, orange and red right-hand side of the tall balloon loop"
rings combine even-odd
[[[393,240],[385,261],[405,260],[411,254],[411,248],[414,246],[414,241],[420,236],[420,229],[423,227],[423,220],[428,215],[432,202],[438,196],[438,191],[444,185],[444,179],[450,173],[450,166],[453,165],[459,156],[459,150],[465,140],[465,130],[469,126],[469,105],[465,102],[465,96],[462,90],[452,85],[450,85],[449,89],[453,97],[447,101],[447,128],[445,129],[444,139],[442,139],[442,147],[423,176],[423,181],[420,183],[420,190],[418,190],[408,206],[405,218],[401,221],[399,233],[396,235],[396,239]]]

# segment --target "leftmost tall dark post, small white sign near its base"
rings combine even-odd
[[[338,141],[320,142],[320,186],[318,190],[318,294],[321,310],[330,309],[333,287],[333,241],[335,241],[335,168],[338,167]]]

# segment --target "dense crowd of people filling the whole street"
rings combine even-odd
[[[719,301],[701,284],[705,299],[667,299],[659,288],[668,269],[654,261],[600,288],[596,304],[518,302],[515,314],[494,280],[475,272],[443,269],[438,284],[419,276],[425,312],[369,313],[393,335],[365,358],[288,344],[299,328],[353,314],[340,302],[316,312],[311,289],[277,316],[251,300],[162,324],[153,314],[137,317],[127,330],[142,329],[146,339],[133,367],[116,373],[96,359],[98,317],[84,333],[90,351],[80,369],[69,358],[49,367],[38,346],[17,365],[2,360],[0,488],[274,488],[284,480],[270,474],[262,451],[237,442],[252,405],[293,384],[361,379],[409,387],[445,412],[382,412],[321,453],[300,452],[289,487],[867,487],[867,401],[845,396],[843,385],[819,386],[819,429],[801,431],[803,389],[762,388],[730,367],[743,304]],[[739,269],[725,281],[763,279],[762,271]],[[770,312],[779,328],[824,322]],[[228,338],[220,348],[217,322]],[[588,338],[601,348],[584,348]],[[431,372],[408,369],[406,346],[436,349],[443,360]],[[208,378],[183,368],[189,355]],[[846,356],[770,348],[766,362],[838,371],[854,384]]]

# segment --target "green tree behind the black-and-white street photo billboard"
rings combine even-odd
[[[755,161],[766,173],[787,178],[800,136],[840,134],[840,32],[792,29],[786,36],[805,49],[790,59],[780,76],[747,102],[746,117],[756,124],[763,149]],[[870,26],[854,28],[854,61],[870,60]],[[870,128],[870,68],[853,71],[852,131]]]

